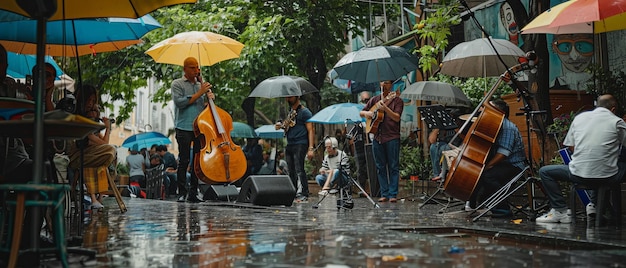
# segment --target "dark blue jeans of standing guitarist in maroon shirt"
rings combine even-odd
[[[398,195],[400,180],[400,139],[390,140],[383,144],[372,142],[376,174],[380,184],[380,196],[395,198]]]

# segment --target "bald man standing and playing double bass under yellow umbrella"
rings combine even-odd
[[[176,141],[178,142],[178,202],[200,202],[198,199],[198,177],[191,172],[190,188],[187,191],[187,168],[191,156],[191,142],[194,147],[200,142],[193,132],[193,122],[204,110],[207,99],[215,99],[209,82],[200,81],[200,67],[194,57],[186,58],[183,62],[184,76],[172,82],[172,100],[175,109]],[[195,151],[195,150],[194,150]],[[187,194],[189,193],[189,195]]]

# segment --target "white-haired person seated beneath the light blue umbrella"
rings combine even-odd
[[[334,137],[327,138],[324,141],[326,155],[322,161],[322,167],[319,170],[320,174],[315,176],[317,184],[322,186],[322,191],[319,192],[320,195],[327,195],[331,190],[331,184],[335,184],[337,179],[348,179],[343,177],[343,174],[340,173],[340,169],[346,172],[346,174],[350,174],[348,155],[342,150],[337,149],[338,143],[339,142]]]

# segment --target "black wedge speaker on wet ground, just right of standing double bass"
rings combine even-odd
[[[253,175],[241,185],[237,202],[252,203],[261,206],[291,206],[296,197],[287,175]]]

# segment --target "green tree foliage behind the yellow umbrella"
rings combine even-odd
[[[124,101],[116,118],[121,123],[135,108],[134,91],[145,86],[148,78],[155,77],[160,85],[151,100],[165,105],[171,99],[171,81],[182,76],[182,67],[155,63],[144,54],[148,48],[181,32],[216,32],[245,45],[239,58],[202,68],[205,80],[213,84],[216,103],[237,121],[267,124],[267,120],[280,118],[278,112],[282,111],[277,107],[281,101],[246,100],[254,86],[265,78],[286,74],[303,76],[324,90],[326,73],[345,52],[347,33],[366,28],[368,12],[363,2],[353,0],[226,0],[177,5],[152,13],[163,28],[148,33],[143,44],[83,56],[80,61],[67,60],[64,68],[109,95],[105,105]],[[313,112],[320,108],[320,94],[304,98]],[[254,117],[255,112],[262,116]]]

